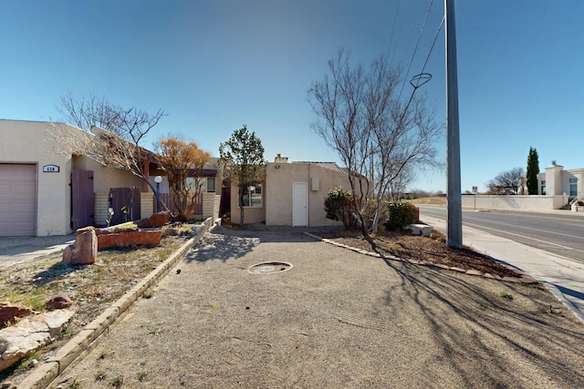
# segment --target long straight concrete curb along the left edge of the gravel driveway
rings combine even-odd
[[[214,225],[213,218],[204,220],[203,227],[197,231],[196,236],[186,241],[166,261],[163,261],[141,282],[134,285],[117,302],[112,303],[110,308],[102,312],[93,322],[86,325],[80,333],[75,335],[68,343],[65,343],[55,356],[48,359],[47,362],[36,366],[35,371],[28,375],[21,384],[18,384],[17,388],[42,389],[51,384],[81,353],[99,342],[100,335],[106,333],[110,325],[116,322],[121,314],[126,312],[144,291],[158,283],[183,258],[183,254],[189,251],[195,243],[201,241],[204,234],[211,230]]]

